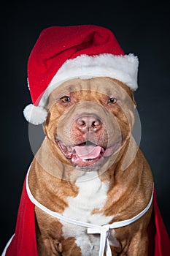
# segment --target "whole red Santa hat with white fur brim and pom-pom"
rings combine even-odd
[[[137,89],[139,61],[125,55],[114,34],[101,26],[52,26],[42,31],[28,59],[32,103],[23,110],[31,124],[42,124],[50,93],[73,78],[110,77]]]

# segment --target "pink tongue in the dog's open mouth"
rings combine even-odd
[[[101,153],[101,147],[96,145],[75,146],[74,148],[81,159],[94,159]]]

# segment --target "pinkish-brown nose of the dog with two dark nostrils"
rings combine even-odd
[[[77,118],[77,128],[82,132],[96,132],[101,128],[101,121],[95,116],[80,116]]]

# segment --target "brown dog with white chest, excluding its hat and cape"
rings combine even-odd
[[[119,80],[67,80],[47,102],[45,140],[28,173],[33,197],[50,211],[93,225],[131,219],[152,197],[150,165],[132,135],[134,93]],[[152,204],[107,232],[112,255],[147,255]],[[35,206],[38,255],[98,255],[100,236]]]

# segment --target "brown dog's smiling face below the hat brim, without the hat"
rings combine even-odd
[[[128,86],[111,78],[74,79],[49,97],[45,133],[61,158],[94,170],[131,136],[135,102]]]

